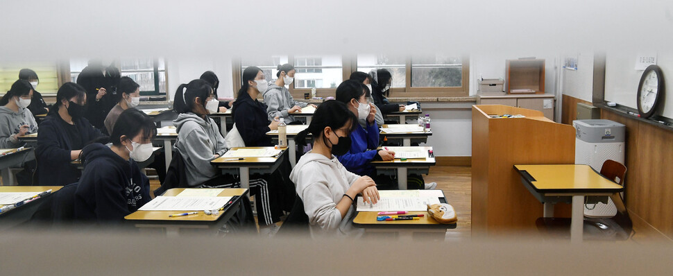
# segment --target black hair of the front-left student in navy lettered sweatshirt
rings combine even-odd
[[[126,135],[130,140],[142,131],[142,139],[150,140],[157,136],[157,125],[154,121],[140,110],[129,108],[119,114],[117,123],[114,123],[110,140],[114,146],[120,146],[121,135]]]

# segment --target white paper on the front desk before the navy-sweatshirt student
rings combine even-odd
[[[203,211],[220,209],[231,200],[231,196],[185,197],[157,196],[147,202],[140,211]]]

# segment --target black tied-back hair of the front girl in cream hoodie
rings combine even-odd
[[[332,128],[332,130],[336,131],[343,126],[346,126],[346,123],[349,121],[350,130],[348,130],[348,132],[350,133],[355,130],[355,127],[358,124],[355,114],[348,110],[348,107],[345,103],[335,100],[325,101],[325,103],[318,105],[316,112],[313,114],[313,119],[311,120],[309,127],[300,131],[297,136],[294,137],[294,140],[297,141],[297,144],[306,146],[306,136],[309,133],[313,135],[314,141],[318,141],[318,138],[323,135],[323,131],[328,126]],[[325,143],[325,146],[327,146],[327,142],[325,142],[324,139],[323,143]]]

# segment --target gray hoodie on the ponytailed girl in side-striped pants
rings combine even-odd
[[[207,121],[187,112],[173,121],[178,130],[175,147],[185,160],[185,173],[189,186],[198,186],[214,178],[219,171],[210,164],[214,155],[223,155],[228,148],[213,119]]]

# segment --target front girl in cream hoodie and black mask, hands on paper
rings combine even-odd
[[[296,136],[306,145],[311,134],[313,149],[303,155],[290,174],[303,200],[312,235],[362,234],[350,221],[355,216],[353,199],[361,194],[364,202],[376,203],[380,196],[376,184],[368,176],[351,173],[334,155],[348,153],[351,132],[359,127],[357,117],[339,101],[325,101],[316,110],[309,127]]]

